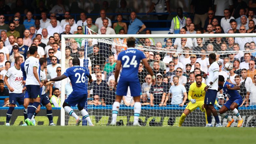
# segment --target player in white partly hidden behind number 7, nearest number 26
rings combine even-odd
[[[39,63],[40,63],[40,81],[43,83],[43,81],[46,79],[46,73],[45,70],[47,68],[47,60],[44,57],[41,57],[39,59]],[[32,120],[36,117],[36,115],[38,114],[38,112],[40,111],[41,105],[46,107],[46,115],[49,119],[49,124],[50,125],[55,125],[53,123],[53,112],[52,112],[52,105],[50,103],[49,97],[47,96],[47,94],[45,93],[44,88],[47,87],[48,85],[50,85],[51,83],[54,82],[48,82],[46,84],[43,83],[42,86],[42,95],[40,96],[40,105],[37,107],[36,112],[34,113],[34,116],[32,117]]]

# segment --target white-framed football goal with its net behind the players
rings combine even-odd
[[[135,48],[144,52],[156,77],[157,86],[152,86],[151,76],[139,64],[138,77],[141,84],[140,123],[144,126],[178,126],[180,116],[186,105],[189,86],[195,82],[195,75],[207,73],[208,55],[217,56],[220,75],[235,85],[240,85],[239,93],[245,103],[239,107],[244,119],[243,126],[248,126],[254,119],[256,104],[254,75],[255,70],[255,34],[180,34],[180,35],[62,35],[62,72],[72,67],[72,58],[80,59],[80,66],[88,69],[94,80],[87,84],[88,101],[85,109],[94,125],[108,125],[112,119],[112,104],[115,101],[114,74],[117,56],[126,50],[126,38],[136,38]],[[224,69],[231,62],[233,69]],[[246,74],[244,74],[246,72]],[[180,87],[175,87],[173,76],[179,77]],[[176,78],[175,78],[176,79]],[[256,80],[256,79],[255,79]],[[206,83],[207,78],[202,82]],[[171,90],[170,90],[171,89]],[[61,85],[61,102],[72,92],[69,80]],[[223,95],[221,95],[223,94]],[[200,97],[200,95],[198,95]],[[186,100],[184,100],[186,99]],[[217,102],[223,105],[227,94],[220,91]],[[184,106],[179,104],[184,103]],[[134,120],[134,100],[130,95],[123,97],[120,105],[117,124],[132,125]],[[77,107],[74,111],[79,114]],[[232,113],[234,120],[236,116]],[[218,114],[219,115],[219,114]],[[81,116],[81,115],[80,115]],[[219,116],[224,126],[227,120]],[[192,111],[185,119],[183,126],[205,126],[205,113],[200,108]],[[236,126],[235,121],[232,126]],[[213,118],[212,121],[215,124]],[[73,117],[61,108],[61,125],[75,125]],[[82,125],[86,125],[83,120]]]

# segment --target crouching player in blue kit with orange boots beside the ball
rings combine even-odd
[[[233,114],[238,118],[238,124],[237,127],[241,127],[243,124],[243,119],[241,118],[241,115],[238,112],[238,106],[240,106],[243,103],[243,98],[240,96],[237,90],[240,90],[239,86],[234,86],[233,84],[227,82],[224,80],[224,76],[219,75],[218,80],[218,91],[223,89],[223,92],[225,92],[228,101],[220,108],[219,114],[221,117],[228,120],[227,127],[230,127],[232,122],[234,122],[234,119],[232,119],[228,114],[227,111],[231,110]]]

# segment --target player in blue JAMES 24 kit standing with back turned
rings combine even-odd
[[[145,57],[142,51],[136,50],[134,37],[126,38],[127,41],[127,50],[122,51],[117,58],[116,72],[115,72],[115,87],[116,90],[116,101],[112,107],[112,121],[110,125],[116,125],[116,119],[120,107],[120,102],[122,97],[127,94],[127,88],[130,87],[131,96],[133,96],[135,104],[134,104],[134,126],[140,126],[138,119],[140,116],[141,104],[140,104],[140,95],[141,95],[141,86],[138,78],[138,67],[140,60],[142,60],[145,68],[148,70],[150,75],[152,76],[152,85],[155,84],[155,76],[151,67],[147,62],[147,58]],[[122,72],[120,74],[119,82],[118,76],[120,72],[120,68],[122,65]]]

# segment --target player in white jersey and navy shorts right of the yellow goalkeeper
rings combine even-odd
[[[209,63],[210,67],[205,73],[204,76],[207,76],[207,86],[205,86],[204,91],[204,108],[207,114],[208,124],[206,126],[212,127],[212,114],[217,122],[216,127],[221,127],[221,123],[219,121],[219,117],[217,115],[216,109],[214,108],[214,103],[216,101],[216,96],[218,92],[218,77],[219,77],[219,65],[216,62],[216,54],[211,53],[209,55]]]

